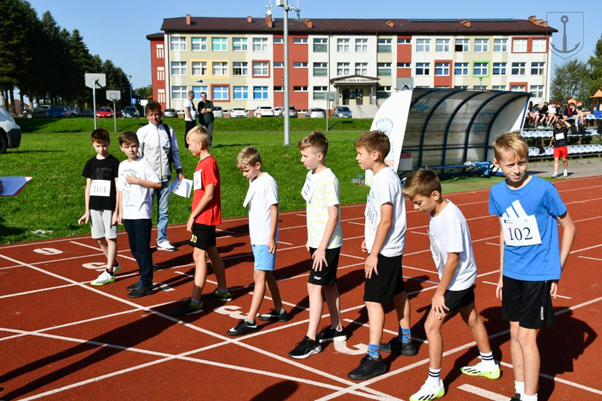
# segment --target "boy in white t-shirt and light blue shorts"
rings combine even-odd
[[[273,177],[262,169],[262,157],[253,146],[247,146],[236,157],[236,165],[249,180],[249,189],[243,207],[249,207],[249,235],[255,266],[253,271],[253,300],[246,319],[227,331],[228,335],[245,335],[257,331],[255,315],[266,294],[266,283],[274,302],[270,312],[260,315],[262,321],[288,321],[283,308],[278,283],[273,271],[276,268],[278,243],[278,186]]]

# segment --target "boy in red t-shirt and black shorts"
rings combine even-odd
[[[209,153],[209,137],[202,126],[196,126],[186,135],[188,150],[200,158],[194,174],[193,211],[188,218],[186,229],[193,235],[190,246],[194,248],[195,285],[193,295],[178,308],[172,310],[172,316],[186,316],[202,312],[201,296],[207,278],[209,255],[211,267],[216,273],[218,288],[203,298],[213,301],[232,301],[232,295],[226,285],[224,262],[216,247],[216,225],[222,222],[220,197],[220,170],[216,159]]]

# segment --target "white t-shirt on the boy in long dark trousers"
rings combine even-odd
[[[123,219],[140,220],[152,217],[152,199],[150,188],[144,188],[137,184],[128,184],[126,176],[134,174],[144,181],[160,183],[153,167],[144,160],[138,158],[135,161],[123,160],[119,163],[119,179],[117,180],[117,189],[123,192],[121,204],[123,205]]]

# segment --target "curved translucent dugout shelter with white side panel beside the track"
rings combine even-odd
[[[495,137],[522,128],[529,96],[466,89],[400,91],[379,108],[371,129],[389,136],[385,162],[398,171],[490,161]]]

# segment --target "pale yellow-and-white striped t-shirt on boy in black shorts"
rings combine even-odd
[[[308,245],[311,248],[319,246],[328,222],[328,208],[338,205],[336,227],[326,249],[343,246],[343,232],[340,229],[340,186],[332,170],[327,168],[318,174],[309,171],[302,191],[305,192],[301,192],[301,195],[306,198],[307,206]]]

